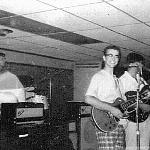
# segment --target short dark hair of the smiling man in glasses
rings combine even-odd
[[[117,50],[117,51],[119,52],[119,57],[121,57],[121,51],[120,51],[120,48],[119,48],[118,46],[115,46],[115,45],[109,45],[109,46],[105,47],[105,48],[104,48],[104,51],[103,51],[103,52],[104,52],[104,56],[107,55],[107,52],[108,52],[109,49]],[[101,68],[103,69],[104,66],[105,66],[105,62],[102,61]]]

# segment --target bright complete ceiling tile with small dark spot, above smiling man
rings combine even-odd
[[[137,23],[137,21],[117,9],[105,4],[91,4],[80,7],[65,8],[68,13],[79,16],[97,27],[111,27],[123,24]]]

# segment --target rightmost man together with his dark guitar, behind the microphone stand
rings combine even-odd
[[[150,86],[142,78],[143,56],[130,53],[127,56],[127,71],[120,77],[123,85],[121,91],[127,103],[133,101],[133,107],[129,107],[128,126],[126,133],[126,150],[137,149],[137,124],[136,124],[136,98],[139,89],[139,131],[140,131],[140,150],[149,150],[150,146]],[[134,105],[135,104],[135,105]]]

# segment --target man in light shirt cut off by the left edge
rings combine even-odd
[[[1,103],[25,101],[25,92],[22,83],[16,75],[6,70],[5,64],[5,54],[0,53],[0,110]]]

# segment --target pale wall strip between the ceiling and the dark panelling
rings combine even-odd
[[[54,68],[64,68],[64,69],[73,69],[74,63],[65,60],[52,59],[42,56],[29,55],[17,52],[2,51],[6,54],[7,62],[31,64],[38,66],[54,67]]]

